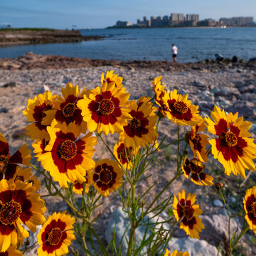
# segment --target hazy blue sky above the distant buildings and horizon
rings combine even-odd
[[[199,14],[200,19],[256,18],[256,0],[0,0],[0,25],[43,28],[105,28],[143,16]]]

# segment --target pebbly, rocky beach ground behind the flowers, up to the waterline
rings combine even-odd
[[[166,89],[177,89],[181,94],[188,94],[188,99],[193,104],[199,105],[202,115],[209,115],[214,105],[224,108],[227,112],[239,112],[245,119],[252,122],[250,132],[252,137],[256,138],[256,63],[254,62],[204,61],[174,64],[157,61],[133,61],[124,63],[117,60],[89,60],[28,53],[15,59],[0,59],[0,131],[9,141],[11,151],[15,151],[24,142],[31,144],[24,131],[28,122],[22,115],[22,110],[26,108],[29,98],[48,89],[53,94],[60,95],[60,88],[68,82],[79,85],[80,88],[83,86],[86,89],[94,88],[100,85],[101,74],[106,73],[107,70],[114,70],[115,74],[124,78],[124,87],[131,92],[132,99],[137,99],[142,95],[153,96],[151,81],[156,76],[162,75]],[[181,132],[184,132],[185,129],[186,127],[181,127]],[[162,138],[164,135],[167,135],[168,142],[176,139],[176,125],[168,119],[163,119],[159,125],[159,137]],[[117,139],[117,134],[114,134],[107,137],[107,142],[113,146]],[[161,151],[157,156],[161,164],[154,166],[153,162],[152,169],[149,170],[151,177],[145,182],[139,183],[138,189],[146,191],[157,181],[154,191],[149,193],[147,200],[151,201],[151,198],[154,198],[156,193],[159,193],[160,189],[174,177],[175,154],[176,151],[171,148]],[[105,157],[111,156],[103,144],[97,144],[95,160]],[[246,186],[240,187],[242,178],[233,175],[225,176],[222,166],[213,159],[210,159],[207,164],[206,171],[224,183],[225,194],[228,195],[228,207],[232,213],[241,210],[245,187],[255,184],[255,174],[251,174]],[[182,245],[191,242],[191,246],[192,244],[197,246],[193,250],[198,252],[203,251],[203,247],[218,247],[219,242],[225,240],[224,236],[227,235],[225,230],[227,229],[228,213],[215,188],[213,186],[202,188],[181,177],[178,178],[175,186],[161,196],[161,199],[177,194],[181,188],[196,193],[198,203],[203,210],[203,223],[206,225],[206,230],[201,234],[203,242],[200,245],[191,242],[181,230],[177,230],[173,242],[176,244],[180,242]],[[44,186],[41,188],[41,193],[46,193]],[[121,202],[116,193],[102,198],[101,202],[102,206],[95,212],[95,215],[100,216],[95,223],[95,228],[99,232],[100,238],[105,240],[105,231],[110,223],[112,212],[121,205]],[[58,198],[46,197],[46,204],[47,214],[51,214],[57,208],[58,210],[67,209]],[[167,213],[163,213],[162,217],[168,218]],[[241,227],[243,221],[243,216],[236,218],[231,223],[232,229]],[[252,238],[255,239],[255,235],[249,232],[242,240],[240,255],[256,255],[255,245],[251,242]],[[33,252],[30,255],[34,255]]]

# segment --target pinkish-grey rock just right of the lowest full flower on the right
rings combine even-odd
[[[200,233],[200,238],[208,241],[211,245],[218,245],[223,241],[223,235],[228,238],[228,215],[213,214],[201,215],[205,229]],[[230,221],[230,232],[235,233],[238,229],[238,223],[232,218]]]

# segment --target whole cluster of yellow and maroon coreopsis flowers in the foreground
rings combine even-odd
[[[37,235],[39,256],[67,254],[68,246],[75,240],[75,231],[87,251],[86,231],[82,233],[82,229],[85,226],[90,231],[93,229],[90,213],[97,208],[97,201],[117,190],[124,210],[134,221],[137,210],[144,206],[135,187],[146,179],[144,173],[151,164],[151,154],[164,148],[165,138],[159,143],[157,139],[161,134],[159,122],[166,117],[166,122],[175,123],[178,131],[180,126],[189,127],[182,138],[178,133],[178,143],[183,141],[186,147],[183,154],[179,151],[177,154],[176,178],[184,174],[198,186],[213,185],[213,177],[206,174],[210,153],[223,165],[228,176],[233,173],[245,178],[246,169],[255,171],[256,145],[248,132],[250,122],[238,117],[238,113],[227,114],[217,106],[210,117],[203,118],[188,95],[178,94],[177,90],[167,91],[161,79],[159,76],[152,82],[153,98],[143,96],[129,100],[123,79],[107,71],[106,75],[102,73],[95,89],[80,90],[78,85],[68,83],[61,90],[62,96],[46,91],[28,100],[23,115],[31,124],[26,131],[43,171],[30,163],[31,152],[26,144],[11,155],[8,142],[0,134],[0,255],[21,255],[17,247],[28,238],[28,230],[35,233],[38,225],[43,225]],[[110,149],[102,136],[114,133],[118,134],[118,140]],[[112,159],[95,156],[97,139],[102,140]],[[190,152],[186,151],[187,146]],[[31,167],[46,178],[50,196],[63,198],[75,218],[66,212],[54,212],[46,220],[43,215],[46,206],[38,193],[41,183]],[[129,183],[128,190],[122,187],[124,182]],[[75,201],[73,193],[82,196],[82,204]],[[205,228],[199,217],[203,211],[195,203],[196,195],[183,189],[174,196],[172,205],[176,223],[191,238],[199,238]],[[256,186],[247,190],[243,203],[245,219],[256,234]],[[162,204],[158,207],[161,209]],[[130,232],[135,232],[138,223],[132,223]],[[130,239],[134,237],[131,233]],[[128,250],[132,252],[131,246],[133,242],[129,241]],[[189,256],[188,252],[168,249],[162,254]]]

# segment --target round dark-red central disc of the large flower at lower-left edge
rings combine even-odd
[[[12,199],[10,202],[1,205],[0,223],[3,225],[12,225],[21,215],[21,204]]]

